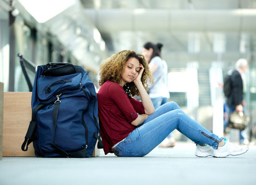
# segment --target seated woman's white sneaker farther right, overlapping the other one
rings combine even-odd
[[[226,138],[224,139],[225,144],[222,147],[218,147],[218,149],[213,149],[213,157],[227,157],[228,155],[241,155],[249,150],[249,147],[244,146],[236,146],[232,142],[229,142]]]

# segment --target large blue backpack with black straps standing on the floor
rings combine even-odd
[[[31,104],[22,150],[33,142],[37,157],[91,157],[97,140],[103,148],[95,87],[81,66],[38,66]]]

